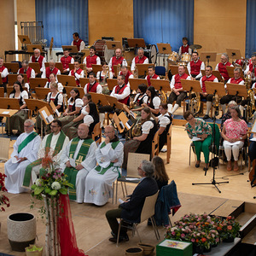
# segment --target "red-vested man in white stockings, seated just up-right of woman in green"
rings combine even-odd
[[[207,99],[207,113],[203,117],[204,120],[210,119],[209,113],[212,107],[212,98],[213,98],[212,94],[207,94],[207,87],[205,84],[206,81],[218,83],[218,79],[212,75],[212,66],[206,67],[206,75],[200,79],[200,85],[202,90],[202,92],[200,93],[201,100]]]

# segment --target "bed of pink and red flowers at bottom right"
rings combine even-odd
[[[220,218],[207,214],[186,214],[166,230],[166,238],[190,241],[196,247],[210,249],[219,242],[238,236],[241,225],[234,217]]]

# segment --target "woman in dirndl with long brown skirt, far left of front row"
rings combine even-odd
[[[23,90],[19,81],[14,84],[14,90],[9,94],[9,98],[18,99],[20,102],[20,110],[15,113],[10,119],[6,120],[5,131],[12,132],[12,130],[18,130],[16,136],[19,136],[24,132],[24,122],[28,118],[28,111],[26,109],[25,99],[28,99],[28,93]]]

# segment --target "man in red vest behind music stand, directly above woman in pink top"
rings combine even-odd
[[[241,84],[244,85],[244,80],[241,79],[241,68],[236,67],[234,69],[234,78],[231,78],[228,80],[227,84]],[[227,88],[227,85],[225,84],[225,89]],[[235,95],[225,95],[220,100],[219,103],[221,105],[221,108],[223,110],[223,113],[226,111],[226,104],[228,104],[230,101],[235,101],[237,103],[241,102],[242,97],[241,96],[235,96]]]

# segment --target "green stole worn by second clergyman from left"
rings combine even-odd
[[[50,143],[53,137],[53,133],[50,133],[49,136],[46,139],[46,143],[45,143],[45,155],[47,155],[49,153],[49,148],[50,148]],[[56,154],[58,154],[64,144],[64,141],[66,139],[66,135],[63,131],[60,132],[60,136],[57,140],[57,143],[55,145],[55,150],[53,153],[53,156],[55,156]],[[24,175],[24,179],[23,179],[23,186],[24,187],[29,187],[30,184],[30,180],[31,180],[31,172],[32,172],[32,167],[34,166],[39,166],[42,163],[42,158],[33,161],[30,165],[26,166],[26,171],[25,171],[25,175]],[[40,176],[42,176],[44,174],[45,170],[44,168],[40,169]]]

